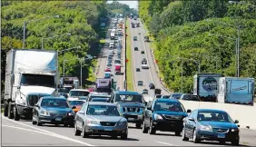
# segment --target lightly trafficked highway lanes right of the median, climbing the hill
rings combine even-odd
[[[153,65],[153,57],[150,53],[150,48],[148,43],[144,43],[144,32],[142,29],[142,23],[140,21],[135,21],[129,19],[129,25],[130,25],[130,30],[131,30],[131,36],[132,37],[132,62],[133,62],[133,83],[135,87],[135,91],[137,92],[142,92],[143,89],[148,89],[149,90],[149,83],[154,83],[156,88],[162,89],[162,94],[169,94],[167,91],[165,91],[160,83],[160,80],[158,78],[157,73],[155,72],[155,67]],[[140,22],[140,27],[135,27],[132,28],[131,23],[137,23]],[[140,34],[141,33],[141,34]],[[138,40],[133,41],[133,36],[137,36]],[[134,47],[138,47],[139,51],[134,51]],[[144,54],[141,54],[141,51],[144,51]],[[143,58],[146,58],[148,61],[148,64],[150,66],[149,69],[142,69],[141,62]],[[141,72],[136,72],[136,68],[140,68]],[[143,86],[138,86],[137,82],[142,80],[143,81]],[[154,96],[153,90],[149,90],[149,95]]]

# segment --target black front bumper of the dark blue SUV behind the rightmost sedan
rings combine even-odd
[[[182,132],[183,129],[182,121],[166,121],[157,120],[153,121],[153,127],[155,130],[162,132]]]

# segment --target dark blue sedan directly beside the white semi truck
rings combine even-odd
[[[44,123],[64,124],[74,127],[74,111],[63,97],[42,97],[33,109],[32,123],[42,125]]]

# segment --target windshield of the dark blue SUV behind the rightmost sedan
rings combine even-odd
[[[154,110],[168,112],[185,112],[182,104],[176,102],[157,102],[155,103]]]

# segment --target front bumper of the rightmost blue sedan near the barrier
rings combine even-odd
[[[239,140],[239,132],[207,132],[207,131],[197,131],[197,137],[201,140],[206,141],[226,141],[231,142],[234,140]]]

